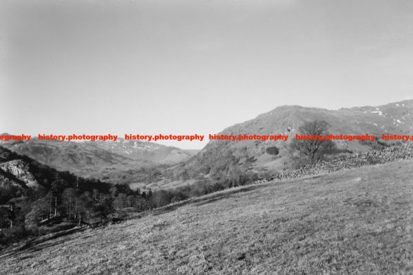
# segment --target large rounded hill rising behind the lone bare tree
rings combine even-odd
[[[211,140],[198,155],[169,169],[174,180],[204,177],[210,181],[231,180],[228,175],[268,177],[277,171],[290,169],[293,164],[286,147],[301,124],[325,120],[333,134],[381,135],[382,133],[411,133],[413,129],[413,100],[394,102],[378,107],[354,107],[327,110],[300,106],[277,107],[258,115],[253,120],[235,124],[219,134],[224,135],[289,135],[287,142],[266,140],[223,141]],[[378,137],[377,137],[378,139]],[[376,140],[377,140],[376,139]],[[357,153],[383,146],[377,142],[335,141],[343,151]],[[391,142],[385,142],[390,145]],[[266,148],[277,146],[279,155],[266,153]],[[231,176],[230,176],[231,177]],[[172,181],[173,182],[173,181]],[[162,182],[161,182],[162,184]],[[176,185],[176,183],[174,183]],[[167,186],[167,184],[164,184]]]

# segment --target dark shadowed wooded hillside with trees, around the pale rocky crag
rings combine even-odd
[[[153,208],[151,190],[140,192],[127,185],[76,177],[2,147],[0,159],[24,162],[28,167],[26,173],[36,181],[34,188],[28,188],[11,174],[4,171],[1,174],[0,245],[59,229],[59,223],[67,226],[104,223],[114,217],[119,208]]]

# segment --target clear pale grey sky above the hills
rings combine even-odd
[[[1,0],[0,133],[207,135],[412,99],[412,49],[411,0]]]

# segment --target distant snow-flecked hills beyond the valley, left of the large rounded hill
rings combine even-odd
[[[159,164],[180,162],[193,155],[170,146],[151,142],[2,142],[2,146],[36,159],[58,170],[68,170],[81,177],[94,177],[112,184],[144,180],[147,170]]]

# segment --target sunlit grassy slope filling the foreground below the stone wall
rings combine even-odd
[[[412,274],[413,162],[228,190],[0,256],[1,274]]]

